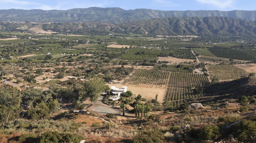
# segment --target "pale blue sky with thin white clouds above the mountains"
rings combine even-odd
[[[69,10],[118,7],[124,10],[256,10],[256,0],[0,0],[0,9]]]

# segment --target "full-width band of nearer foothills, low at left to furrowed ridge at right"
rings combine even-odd
[[[37,27],[67,34],[137,33],[153,35],[234,35],[256,36],[256,21],[227,17],[175,17],[138,20],[127,23],[104,22],[56,22],[56,23],[9,23],[0,22],[1,31],[30,31]]]

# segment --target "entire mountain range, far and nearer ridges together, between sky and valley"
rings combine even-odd
[[[256,36],[254,20],[256,11],[242,10],[161,11],[96,7],[48,11],[0,10],[1,31],[31,31],[31,28],[36,27],[45,31],[84,35],[137,33]]]

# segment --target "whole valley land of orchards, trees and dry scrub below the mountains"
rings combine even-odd
[[[1,33],[17,39],[0,41],[0,142],[255,141],[255,73],[236,67],[255,66],[254,39],[148,36]],[[111,100],[108,85],[124,83],[165,94],[128,90]],[[98,105],[118,114],[89,110]]]

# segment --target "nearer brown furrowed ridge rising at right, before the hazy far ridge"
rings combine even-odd
[[[256,21],[227,17],[154,18],[116,24],[116,33],[154,35],[256,35]]]

